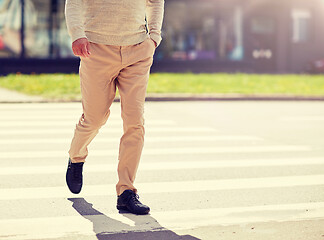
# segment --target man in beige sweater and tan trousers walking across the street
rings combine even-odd
[[[87,146],[109,117],[118,87],[124,134],[120,139],[117,209],[147,214],[134,180],[144,143],[144,102],[155,48],[161,42],[164,0],[66,0],[72,50],[81,58],[83,114],[66,172],[71,192],[82,188]]]

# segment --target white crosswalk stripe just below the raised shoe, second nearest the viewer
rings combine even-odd
[[[216,191],[229,189],[253,189],[253,188],[274,188],[323,185],[324,175],[284,176],[268,178],[241,178],[221,179],[203,181],[178,181],[178,182],[150,182],[138,183],[141,193],[181,193]],[[83,190],[80,197],[107,196],[108,193],[115,194],[115,184],[110,185],[89,185]],[[108,190],[108,191],[107,191]],[[109,195],[109,194],[108,194]],[[40,199],[40,198],[68,198],[73,197],[66,187],[46,188],[12,188],[0,189],[0,200],[5,199]]]

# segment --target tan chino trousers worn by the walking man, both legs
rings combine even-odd
[[[149,37],[130,46],[90,43],[91,55],[81,58],[79,75],[83,114],[76,126],[69,155],[84,162],[87,146],[104,125],[118,87],[124,134],[120,139],[117,195],[133,183],[144,144],[144,102],[155,45]]]

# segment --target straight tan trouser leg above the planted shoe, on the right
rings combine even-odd
[[[128,65],[117,77],[124,129],[119,145],[117,195],[126,189],[137,191],[133,184],[144,144],[144,102],[154,49],[150,39],[125,49]]]

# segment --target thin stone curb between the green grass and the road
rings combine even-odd
[[[148,94],[147,102],[177,101],[324,101],[324,96],[299,95],[244,95],[244,94]],[[29,99],[0,99],[0,103],[68,103],[80,100],[53,100],[31,97]],[[114,102],[120,102],[116,97]]]

